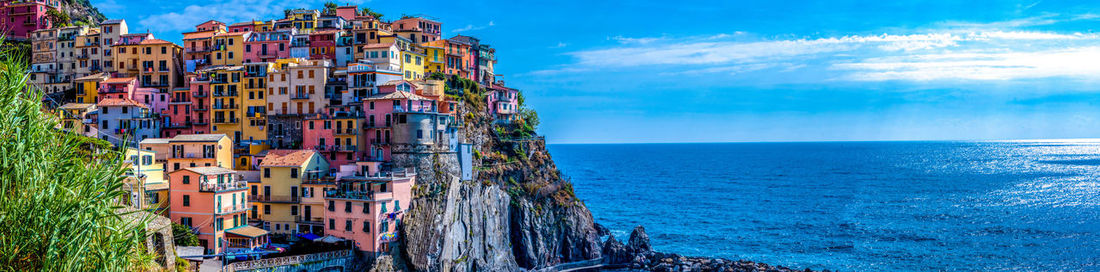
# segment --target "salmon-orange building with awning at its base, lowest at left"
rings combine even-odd
[[[172,221],[191,227],[207,251],[251,250],[267,231],[248,225],[248,184],[222,167],[188,167],[168,174]]]

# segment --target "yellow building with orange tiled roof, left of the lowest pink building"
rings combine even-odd
[[[323,217],[324,205],[301,200],[323,192],[302,184],[324,175],[328,161],[312,150],[268,150],[260,160],[260,183],[250,186],[251,218],[263,221],[264,229],[276,233],[314,229],[316,222],[307,218]]]

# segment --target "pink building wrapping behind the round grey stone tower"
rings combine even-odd
[[[393,126],[397,112],[436,112],[436,101],[416,95],[416,85],[407,80],[391,80],[378,86],[378,94],[363,99],[365,131],[363,149],[372,159],[391,160]]]

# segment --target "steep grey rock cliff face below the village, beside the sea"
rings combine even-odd
[[[601,257],[592,215],[573,196],[541,138],[501,137],[466,94],[461,133],[473,143],[473,181],[453,153],[395,155],[417,168],[405,215],[404,265],[415,271],[516,271]],[[396,157],[404,159],[396,159]]]

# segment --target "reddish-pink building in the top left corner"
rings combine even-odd
[[[0,0],[0,33],[8,39],[30,39],[31,32],[53,25],[46,11],[59,4],[58,0]]]

